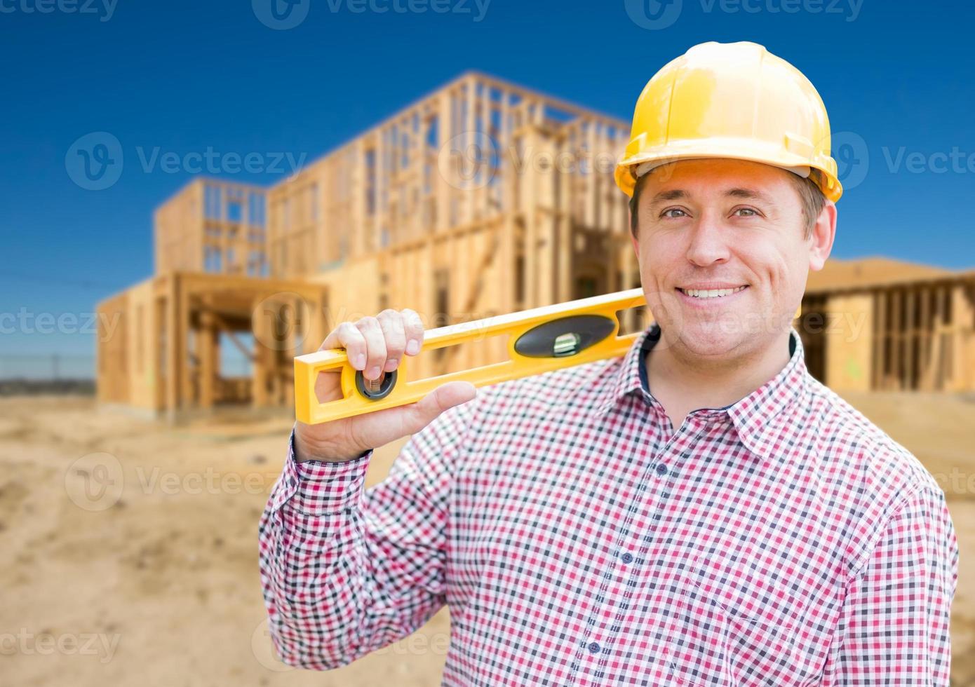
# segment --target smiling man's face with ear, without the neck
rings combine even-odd
[[[827,202],[803,238],[791,173],[724,159],[649,172],[634,248],[662,344],[689,360],[717,361],[758,353],[789,329],[836,227]]]

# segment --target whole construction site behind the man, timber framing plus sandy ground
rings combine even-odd
[[[439,684],[447,607],[343,668],[275,653],[256,526],[287,455],[292,358],[384,308],[436,327],[641,286],[612,178],[628,136],[628,123],[465,73],[270,187],[200,177],[163,203],[154,274],[98,304],[113,334],[98,332],[96,398],[0,399],[3,624],[30,633],[0,656],[5,684]],[[810,371],[944,487],[962,560],[975,543],[973,282],[830,258],[794,323]],[[505,355],[495,339],[466,346],[411,371]],[[376,449],[366,487],[408,439]],[[956,686],[975,684],[972,570],[953,607]],[[46,637],[98,642],[43,657],[25,643]]]

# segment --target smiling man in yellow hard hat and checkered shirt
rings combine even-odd
[[[944,493],[808,374],[792,326],[836,170],[819,95],[761,46],[661,69],[616,171],[655,324],[474,402],[453,382],[297,423],[260,523],[284,661],[342,666],[447,604],[450,685],[947,685]],[[384,311],[323,347],[374,379],[421,340]],[[408,434],[364,492],[372,447]]]

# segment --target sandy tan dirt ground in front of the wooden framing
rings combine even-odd
[[[915,452],[951,499],[961,549],[953,684],[975,685],[975,399],[848,395]],[[0,399],[0,683],[437,685],[446,611],[346,668],[276,660],[257,519],[291,422],[172,428],[83,398]],[[378,450],[381,479],[403,441]]]

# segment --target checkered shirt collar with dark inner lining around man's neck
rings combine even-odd
[[[660,340],[660,326],[650,324],[634,340],[630,350],[623,357],[618,368],[613,368],[612,378],[596,408],[603,416],[627,395],[643,391],[646,401],[656,405],[663,413],[660,401],[653,398],[644,386],[645,370],[643,359],[647,351],[653,349]],[[752,450],[762,455],[774,442],[774,435],[781,422],[790,413],[792,405],[799,402],[808,390],[807,370],[802,348],[802,339],[795,326],[789,331],[789,362],[770,380],[748,396],[722,408],[702,408],[693,411],[702,417],[716,417],[726,414],[734,425],[738,436]],[[677,430],[678,428],[674,428]]]

